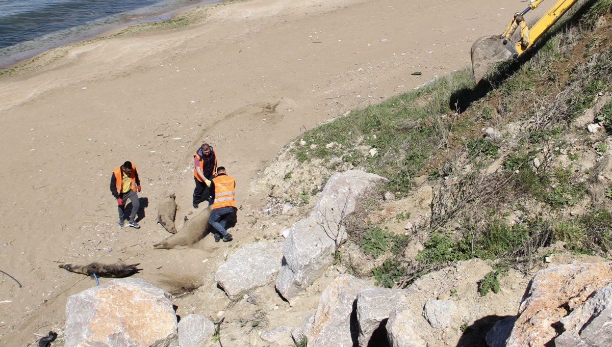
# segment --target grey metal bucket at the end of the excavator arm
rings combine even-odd
[[[505,37],[485,36],[481,37],[470,50],[472,57],[472,71],[476,83],[480,82],[487,71],[498,62],[518,57],[518,53],[512,42]]]

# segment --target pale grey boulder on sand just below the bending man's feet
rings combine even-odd
[[[236,298],[271,283],[280,269],[282,252],[282,243],[247,244],[219,265],[215,280],[230,298]]]

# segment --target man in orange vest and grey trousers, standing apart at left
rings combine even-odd
[[[130,202],[132,202],[132,213],[130,213],[127,225],[136,229],[140,228],[140,225],[138,225],[134,219],[140,208],[140,201],[138,200],[136,191],[142,191],[136,166],[126,161],[123,165],[116,167],[111,174],[110,188],[114,198],[117,199],[119,227],[123,227],[123,222],[125,221],[125,204],[127,203],[127,199],[130,199]]]

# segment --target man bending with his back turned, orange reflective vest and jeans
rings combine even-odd
[[[225,167],[217,168],[217,177],[211,182],[211,217],[208,222],[215,228],[215,242],[232,240],[232,235],[225,230],[228,217],[236,211],[236,181],[227,175]]]

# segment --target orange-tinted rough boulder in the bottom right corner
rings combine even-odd
[[[537,272],[521,302],[507,346],[550,344],[559,334],[561,318],[611,283],[612,263],[567,264]]]

